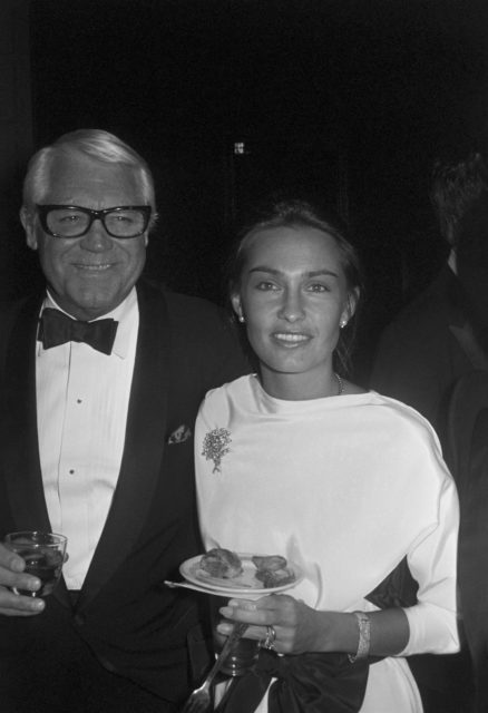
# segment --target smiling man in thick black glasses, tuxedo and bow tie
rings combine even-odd
[[[193,426],[246,371],[221,311],[141,279],[147,164],[79,130],[31,159],[21,221],[47,289],[0,309],[0,539],[68,537],[46,599],[0,545],[2,713],[173,712],[207,663],[206,598],[165,579],[197,555]]]

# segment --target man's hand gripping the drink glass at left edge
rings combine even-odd
[[[22,557],[16,555],[4,545],[0,545],[0,615],[3,616],[33,616],[45,608],[43,599],[16,594],[17,589],[39,589],[40,582],[37,577],[23,573],[26,563]]]

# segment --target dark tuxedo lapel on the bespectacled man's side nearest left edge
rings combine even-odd
[[[10,508],[18,529],[49,530],[39,461],[36,408],[36,335],[41,299],[21,307],[6,359],[2,458]]]

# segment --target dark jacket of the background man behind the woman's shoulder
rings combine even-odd
[[[381,335],[370,385],[413,407],[436,428],[443,450],[446,414],[457,380],[488,368],[472,332],[459,281],[446,265]],[[426,713],[457,713],[470,688],[467,652],[410,656]]]

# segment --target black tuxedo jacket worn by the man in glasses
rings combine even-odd
[[[42,614],[0,617],[2,702],[1,682],[13,687],[29,667],[45,682],[58,680],[61,668],[69,680],[70,652],[76,657],[80,641],[106,668],[168,701],[186,695],[192,663],[198,665],[203,597],[163,582],[177,578],[178,565],[202,550],[193,469],[197,408],[208,389],[247,367],[217,307],[147,284],[137,293],[136,362],[113,505],[76,607],[61,582]],[[0,312],[0,537],[50,529],[36,418],[42,297]],[[170,439],[175,432],[191,438]]]

